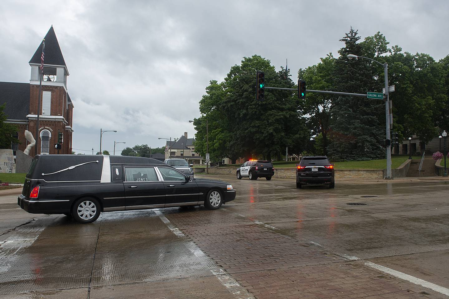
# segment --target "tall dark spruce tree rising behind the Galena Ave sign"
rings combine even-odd
[[[373,53],[372,39],[368,39],[367,43],[358,43],[359,39],[357,30],[352,27],[349,33],[340,39],[345,43],[345,47],[339,50],[340,56],[335,61],[334,84],[337,91],[365,93],[382,90],[377,65],[365,59],[349,61],[347,55],[377,58],[376,55],[384,54],[385,47],[376,47],[379,52]],[[382,158],[384,151],[380,141],[384,133],[380,121],[382,117],[385,120],[383,101],[337,96],[333,102],[333,142],[328,147],[330,156],[335,160]]]

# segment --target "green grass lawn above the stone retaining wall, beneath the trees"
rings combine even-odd
[[[408,155],[393,155],[392,156],[392,168],[398,168],[402,163],[409,158]],[[421,159],[420,156],[412,156],[413,159]],[[274,161],[273,166],[276,167],[295,167],[299,161]],[[335,169],[385,169],[387,168],[387,160],[369,160],[369,161],[345,161],[345,162],[334,162]],[[239,167],[240,164],[226,165],[227,167]]]

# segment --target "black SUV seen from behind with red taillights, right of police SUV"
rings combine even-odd
[[[296,188],[308,184],[335,187],[334,165],[326,156],[305,156],[299,161],[296,168]]]

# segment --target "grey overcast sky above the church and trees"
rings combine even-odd
[[[381,12],[383,11],[383,12]],[[73,148],[194,137],[188,121],[210,80],[258,54],[294,75],[343,47],[350,26],[439,60],[449,54],[449,1],[18,1],[0,2],[0,81],[29,82],[50,26],[70,76]],[[235,107],[238,109],[238,107]]]

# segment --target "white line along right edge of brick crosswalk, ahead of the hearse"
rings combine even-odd
[[[257,221],[257,220],[252,221],[252,220],[248,219],[248,217],[243,216],[242,214],[238,214],[238,213],[233,212],[233,211],[230,211],[230,210],[228,210],[228,209],[226,209],[226,208],[221,208],[221,209],[222,209],[222,210],[225,210],[225,211],[227,211],[227,212],[230,212],[230,213],[232,213],[232,214],[234,214],[234,215],[237,215],[237,216],[239,216],[239,217],[243,217],[243,218],[245,218],[246,220],[249,220],[249,221],[253,222],[254,224],[264,226],[264,227],[268,228],[269,230],[280,231],[280,229],[278,229],[277,227],[274,227],[274,226],[272,226],[272,225],[266,224],[266,223],[264,223],[264,222],[260,222],[260,221]],[[285,232],[282,232],[282,234],[286,234],[286,233],[285,233]],[[291,237],[293,237],[293,238],[298,239],[298,238],[297,238],[296,236],[294,236],[294,235],[291,235],[291,234],[288,234],[288,235],[291,236]],[[334,254],[336,254],[336,255],[338,255],[338,256],[341,256],[341,257],[343,257],[343,258],[345,258],[345,259],[347,259],[347,260],[361,260],[361,259],[358,258],[357,256],[348,256],[348,255],[343,254],[343,253],[335,252],[335,251],[333,251],[332,249],[330,249],[330,248],[328,248],[328,247],[325,247],[325,246],[322,246],[321,244],[318,244],[318,243],[316,243],[316,242],[309,241],[309,240],[306,240],[306,239],[301,239],[301,240],[304,241],[304,242],[306,242],[306,243],[313,244],[313,245],[315,245],[315,246],[317,246],[317,247],[320,247],[320,248],[323,249],[323,250],[326,250],[326,251],[329,251],[329,252],[331,252],[331,253],[334,253]],[[393,270],[393,269],[390,269],[390,268],[387,268],[387,267],[384,267],[384,266],[381,266],[381,265],[379,265],[379,264],[374,264],[374,263],[372,263],[372,262],[365,262],[365,266],[370,267],[370,268],[373,268],[373,269],[376,269],[376,270],[378,270],[378,271],[380,271],[380,272],[387,273],[387,274],[390,274],[390,275],[392,275],[392,276],[401,278],[402,280],[405,280],[405,281],[414,283],[415,285],[418,285],[418,286],[424,286],[424,287],[426,287],[426,288],[428,288],[428,289],[431,289],[431,290],[434,290],[434,291],[436,291],[436,292],[438,292],[438,293],[440,293],[440,294],[449,296],[449,289],[447,289],[447,288],[445,288],[445,287],[443,287],[443,286],[438,286],[438,285],[433,284],[433,283],[431,283],[431,282],[427,282],[427,281],[425,281],[425,280],[423,280],[423,279],[420,279],[420,278],[411,276],[411,275],[409,275],[409,274],[405,274],[405,273],[402,273],[402,272],[399,272],[399,271],[396,271],[396,270]]]

